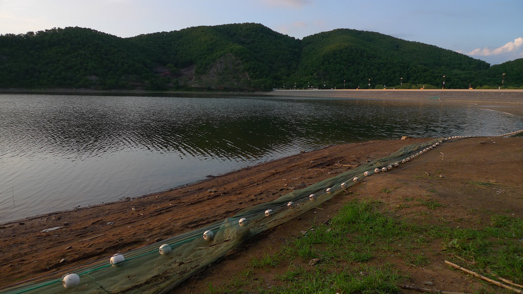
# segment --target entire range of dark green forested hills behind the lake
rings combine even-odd
[[[0,36],[0,88],[519,87],[523,60],[490,66],[435,46],[337,29],[295,39],[259,24],[119,38],[68,27]],[[345,81],[345,83],[344,83]],[[400,85],[403,83],[403,85]],[[344,85],[345,84],[345,85]]]

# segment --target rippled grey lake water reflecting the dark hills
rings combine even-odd
[[[0,223],[329,144],[519,129],[518,116],[430,100],[0,95]]]

